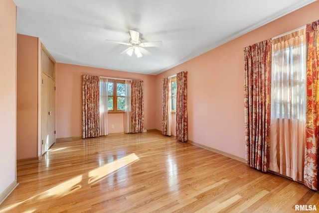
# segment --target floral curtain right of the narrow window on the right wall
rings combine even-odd
[[[187,71],[176,75],[176,138],[181,142],[188,140],[187,127]]]

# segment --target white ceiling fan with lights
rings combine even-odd
[[[140,33],[138,31],[130,30],[130,35],[131,35],[131,38],[129,40],[129,43],[125,43],[125,42],[121,42],[121,41],[113,41],[113,40],[108,40],[108,39],[106,39],[106,41],[130,46],[129,48],[124,50],[121,54],[126,53],[129,56],[132,56],[132,54],[134,52],[138,58],[143,56],[142,53],[144,55],[151,54],[144,47],[161,47],[161,46],[163,46],[163,43],[161,41],[142,42],[140,39]]]

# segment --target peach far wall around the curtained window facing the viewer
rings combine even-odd
[[[144,128],[154,129],[155,76],[57,63],[56,138],[82,136],[82,75],[95,75],[144,81]],[[109,132],[123,132],[124,119],[110,114]],[[120,119],[119,119],[120,118]]]

